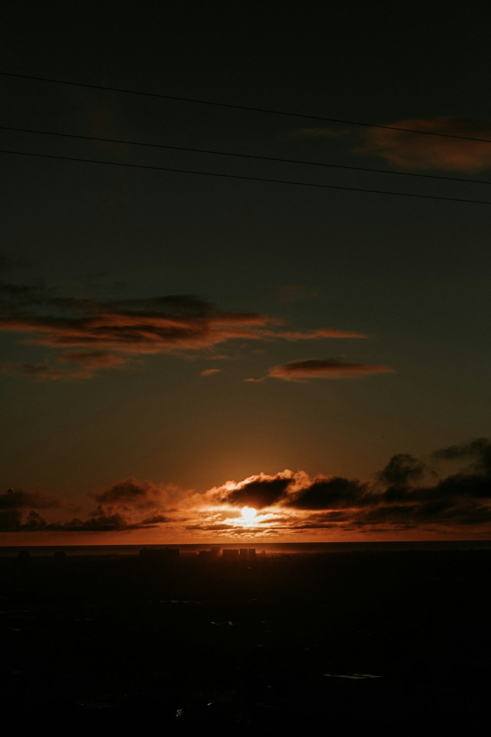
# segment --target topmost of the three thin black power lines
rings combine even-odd
[[[442,138],[460,139],[462,141],[477,141],[480,143],[491,143],[491,139],[478,139],[472,136],[455,136],[452,133],[437,133],[434,130],[415,130],[414,128],[399,128],[397,125],[377,125],[375,123],[364,123],[359,120],[339,120],[337,118],[325,118],[318,115],[306,115],[304,113],[290,113],[284,110],[269,110],[268,108],[250,108],[247,105],[231,105],[228,102],[213,102],[208,99],[194,99],[193,97],[176,97],[175,95],[160,94],[157,92],[142,92],[140,90],[129,90],[121,87],[105,87],[102,85],[87,85],[82,82],[67,82],[66,80],[52,80],[49,77],[32,77],[29,74],[13,74],[9,71],[0,71],[3,77],[17,77],[22,80],[35,80],[36,82],[50,82],[57,85],[71,85],[72,87],[87,87],[109,92],[124,92],[124,94],[138,94],[144,97],[160,97],[160,99],[173,99],[178,102],[194,102],[197,105],[215,105],[219,108],[233,108],[234,110],[248,110],[254,113],[269,113],[269,115],[284,115],[293,118],[304,118],[309,120],[322,120],[328,123],[342,123],[343,125],[361,125],[364,128],[384,128],[386,130],[403,130],[404,133],[419,133],[422,136],[440,136]]]

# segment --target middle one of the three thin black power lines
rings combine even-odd
[[[491,181],[478,179],[464,179],[458,177],[439,177],[434,174],[416,174],[414,172],[390,172],[386,169],[369,169],[367,167],[347,167],[342,164],[325,164],[319,161],[301,161],[296,158],[276,158],[274,156],[252,156],[248,153],[230,153],[229,151],[211,151],[203,148],[187,148],[183,146],[166,146],[158,143],[144,143],[141,141],[125,141],[124,139],[106,139],[97,136],[78,136],[76,133],[53,133],[51,130],[33,130],[32,128],[11,128],[0,125],[0,130],[15,130],[18,133],[40,133],[43,136],[61,136],[63,138],[83,139],[85,141],[102,141],[106,143],[127,144],[130,146],[146,146],[149,148],[165,148],[171,151],[188,151],[190,153],[210,153],[213,156],[236,156],[237,158],[254,158],[260,161],[281,161],[284,164],[304,164],[311,167],[329,167],[331,169],[348,169],[356,172],[375,172],[377,174],[396,174],[403,177],[422,177],[425,179],[439,179],[443,181],[467,182],[469,184],[491,184]]]

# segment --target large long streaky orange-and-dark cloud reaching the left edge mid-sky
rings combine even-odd
[[[91,347],[127,354],[210,348],[233,338],[257,338],[266,317],[223,312],[193,296],[88,301],[59,298],[23,285],[4,285],[0,330],[28,335],[27,342],[52,348]],[[13,303],[13,304],[12,304]],[[21,309],[28,305],[29,312]],[[43,307],[32,312],[32,308]],[[46,313],[47,312],[47,313]]]

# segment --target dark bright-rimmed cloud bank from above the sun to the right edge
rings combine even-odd
[[[283,533],[327,528],[397,531],[425,525],[435,525],[440,531],[459,525],[482,528],[491,521],[491,468],[482,462],[489,448],[490,441],[477,439],[436,451],[434,455],[470,455],[481,460],[473,469],[431,484],[425,483],[425,477],[434,478],[434,474],[422,461],[399,453],[374,475],[375,481],[322,475],[310,478],[305,472],[283,471],[227,482],[211,489],[208,501],[213,509],[219,503],[268,507],[273,514],[268,512],[264,525],[256,525],[257,529],[274,528]]]

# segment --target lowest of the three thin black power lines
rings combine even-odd
[[[195,174],[207,177],[220,177],[227,179],[244,179],[255,182],[269,182],[272,184],[294,184],[297,186],[312,186],[319,189],[342,189],[345,192],[371,192],[372,195],[395,195],[397,197],[417,197],[421,200],[446,200],[447,202],[467,202],[476,205],[491,205],[486,200],[464,200],[456,197],[437,197],[436,195],[411,195],[407,192],[386,192],[383,189],[361,189],[353,186],[335,186],[334,184],[314,184],[311,182],[297,182],[286,179],[265,179],[262,177],[245,177],[238,174],[216,174],[215,172],[197,172],[188,169],[171,169],[169,167],[150,167],[145,164],[123,164],[119,161],[100,161],[95,158],[75,158],[74,156],[54,156],[49,153],[29,153],[27,151],[11,151],[0,149],[0,153],[13,153],[17,156],[37,156],[40,158],[56,158],[63,161],[85,161],[87,164],[106,164],[110,167],[130,167],[131,169],[150,169],[159,172],[178,172],[180,174]]]

